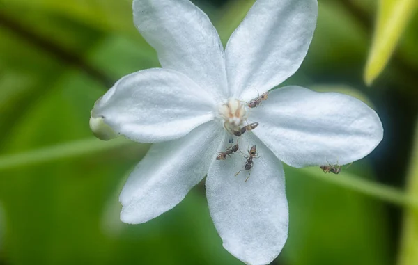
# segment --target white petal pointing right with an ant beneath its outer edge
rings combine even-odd
[[[344,165],[369,154],[383,137],[373,109],[341,93],[287,86],[251,112],[254,134],[289,166]]]

